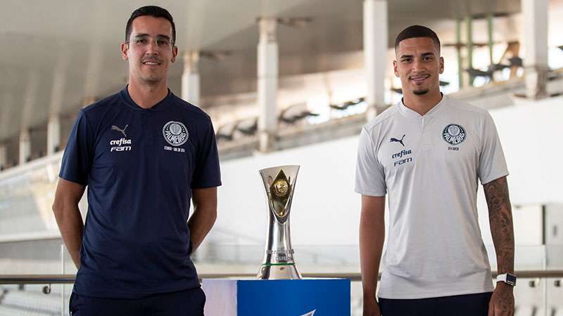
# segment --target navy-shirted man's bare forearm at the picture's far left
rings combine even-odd
[[[77,205],[53,205],[53,213],[70,258],[72,258],[76,268],[80,268],[80,247],[82,246],[82,233],[84,232],[80,209]]]

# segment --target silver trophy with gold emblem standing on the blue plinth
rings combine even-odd
[[[299,166],[260,170],[268,204],[268,230],[258,279],[301,279],[293,261],[289,230],[289,213],[298,171]]]

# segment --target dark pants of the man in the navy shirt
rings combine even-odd
[[[200,287],[144,298],[70,296],[72,316],[203,316],[205,294]]]

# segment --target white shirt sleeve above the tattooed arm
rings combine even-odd
[[[508,169],[495,122],[488,112],[483,122],[482,135],[478,173],[481,184],[484,185],[498,178],[508,176]]]

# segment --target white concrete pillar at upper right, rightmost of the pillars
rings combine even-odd
[[[548,96],[548,0],[521,0],[524,16],[526,96]]]

